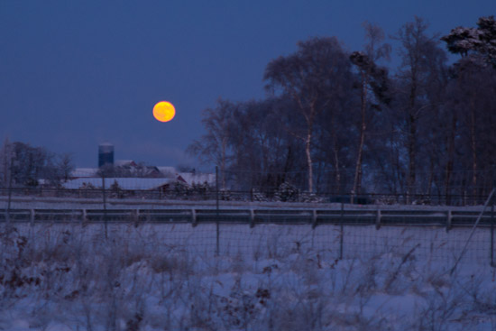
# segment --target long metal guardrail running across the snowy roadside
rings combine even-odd
[[[473,225],[478,211],[340,209],[0,209],[0,222],[143,222],[317,225],[436,225],[446,230]],[[496,213],[482,215],[481,226],[494,225]]]

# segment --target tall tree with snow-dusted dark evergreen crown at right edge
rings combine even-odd
[[[485,151],[493,150],[494,111],[491,98],[494,96],[494,69],[496,69],[496,22],[494,16],[481,17],[477,28],[456,27],[441,38],[446,42],[448,51],[460,54],[462,59],[454,66],[454,79],[450,85],[452,109],[455,110],[453,133],[449,144],[449,168],[446,168],[446,196],[450,183],[455,152],[455,127],[458,135],[467,137],[459,146],[460,151],[468,152],[471,156],[472,178],[470,179],[472,194],[477,195],[480,186],[479,170],[491,168],[491,163],[485,159]],[[487,64],[492,66],[489,67]],[[459,122],[459,124],[458,124]],[[482,143],[485,142],[485,143]],[[482,146],[484,146],[482,148]],[[489,158],[491,159],[491,157]],[[462,161],[464,163],[464,161]]]

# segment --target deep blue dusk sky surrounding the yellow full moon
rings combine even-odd
[[[117,160],[191,164],[202,110],[264,97],[265,66],[298,41],[336,36],[356,51],[364,21],[390,35],[418,15],[446,34],[491,14],[494,0],[2,0],[0,138],[78,167],[96,167],[103,142]],[[161,100],[176,106],[169,123],[152,116]]]

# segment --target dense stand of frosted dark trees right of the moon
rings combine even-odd
[[[300,41],[267,65],[267,97],[219,99],[188,152],[222,187],[309,193],[483,196],[496,163],[496,23],[448,35],[416,17],[391,38],[364,23],[363,50],[335,37]],[[388,67],[391,51],[398,68]],[[459,55],[448,64],[447,54]]]

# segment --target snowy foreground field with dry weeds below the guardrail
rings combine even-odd
[[[487,228],[0,226],[0,330],[496,330]]]

